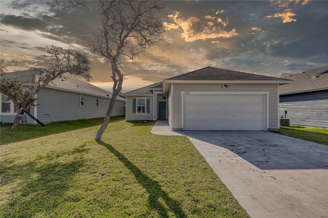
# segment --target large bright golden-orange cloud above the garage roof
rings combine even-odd
[[[174,11],[173,14],[168,15],[169,18],[173,19],[174,23],[165,24],[167,28],[171,29],[181,29],[182,33],[180,36],[186,42],[194,42],[196,40],[206,40],[206,39],[215,39],[215,38],[230,38],[232,36],[237,36],[236,29],[230,31],[225,31],[221,27],[214,25],[214,23],[209,23],[206,20],[201,20],[197,17],[189,17],[187,19],[181,18],[180,12]],[[225,27],[228,21],[226,22],[217,22],[222,23]],[[209,26],[210,25],[210,26]],[[214,25],[214,26],[213,26]],[[176,28],[178,26],[178,28]],[[212,27],[213,26],[213,27]]]

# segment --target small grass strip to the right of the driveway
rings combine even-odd
[[[291,136],[297,139],[303,139],[310,142],[328,145],[328,129],[305,126],[280,126],[279,131],[275,132],[281,135]]]

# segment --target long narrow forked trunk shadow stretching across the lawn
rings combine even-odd
[[[177,200],[172,199],[167,192],[165,192],[159,183],[133,165],[133,163],[127,159],[123,154],[113,148],[112,145],[103,141],[97,141],[98,144],[105,146],[110,152],[112,152],[117,159],[119,159],[135,176],[136,180],[142,187],[148,192],[148,205],[153,210],[157,210],[161,217],[169,217],[168,210],[159,201],[160,198],[164,200],[166,206],[170,211],[174,213],[176,217],[187,217],[184,211],[180,207],[180,203]]]

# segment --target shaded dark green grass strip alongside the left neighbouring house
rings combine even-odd
[[[114,116],[111,117],[110,122],[122,119],[125,119],[125,116]],[[10,125],[6,126],[3,124],[0,127],[0,143],[12,143],[49,134],[96,126],[102,124],[103,121],[104,118],[95,118],[88,120],[63,121],[47,124],[46,126],[20,124],[17,129],[11,129]]]

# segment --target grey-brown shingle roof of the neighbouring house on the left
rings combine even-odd
[[[35,83],[38,81],[39,72],[37,70],[24,70],[9,73],[9,75],[18,76],[25,84]],[[94,86],[88,82],[72,78],[71,76],[63,76],[56,78],[46,86],[48,88],[60,89],[71,92],[85,93],[94,96],[111,98],[112,93]],[[109,95],[109,96],[107,96]],[[117,97],[117,100],[125,101],[122,97]]]

